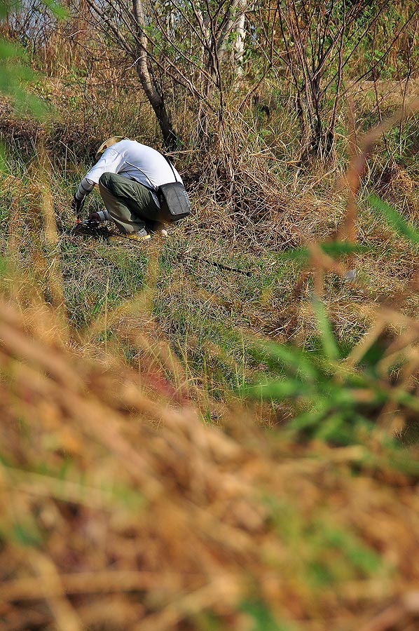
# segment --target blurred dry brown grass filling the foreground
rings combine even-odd
[[[227,431],[205,426],[161,374],[83,358],[63,335],[45,306],[2,302],[2,628],[200,629],[212,611],[245,630],[245,602],[354,631],[390,629],[368,620],[394,602],[411,628],[418,478],[379,440],[267,441],[239,409]]]

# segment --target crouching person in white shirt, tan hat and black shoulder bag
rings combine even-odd
[[[167,234],[162,222],[177,221],[190,212],[190,205],[183,208],[186,212],[181,212],[174,208],[174,203],[174,215],[167,208],[167,200],[169,205],[171,199],[176,201],[179,190],[183,191],[187,205],[188,196],[177,170],[156,149],[128,138],[112,137],[99,147],[95,160],[72,201],[79,214],[85,196],[95,184],[99,186],[105,210],[90,213],[89,221],[111,220],[122,237],[148,240],[151,232]],[[186,203],[181,197],[179,200]]]

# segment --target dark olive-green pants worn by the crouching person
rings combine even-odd
[[[139,182],[116,173],[103,173],[99,193],[121,232],[137,232],[157,223],[158,205],[151,191]]]

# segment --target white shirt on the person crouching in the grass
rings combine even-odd
[[[174,167],[173,170],[176,177],[166,158],[156,149],[136,140],[121,140],[104,151],[85,179],[97,184],[102,173],[118,173],[150,189],[176,180],[182,182],[177,170]]]

